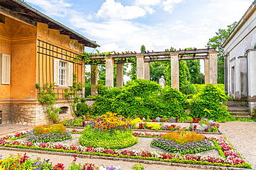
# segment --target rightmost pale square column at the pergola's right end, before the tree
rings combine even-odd
[[[218,52],[209,53],[209,66],[210,66],[210,83],[217,85],[218,80]]]

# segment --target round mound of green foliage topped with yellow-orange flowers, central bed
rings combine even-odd
[[[132,135],[129,120],[111,112],[100,116],[97,121],[87,123],[83,133],[80,137],[80,144],[83,146],[120,149],[138,142]]]

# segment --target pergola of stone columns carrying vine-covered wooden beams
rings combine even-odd
[[[98,65],[93,61],[101,60],[98,64],[106,64],[106,86],[113,87],[113,65],[117,64],[116,86],[123,84],[123,64],[127,58],[136,58],[137,78],[149,80],[149,63],[152,61],[171,61],[172,87],[179,89],[179,60],[203,59],[205,68],[205,83],[217,85],[217,52],[214,48],[194,50],[174,50],[165,52],[144,53],[115,53],[91,55],[91,95],[95,96],[95,85],[98,84]],[[118,60],[116,60],[118,59]],[[97,63],[97,62],[96,62]]]

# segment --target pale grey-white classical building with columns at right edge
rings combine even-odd
[[[226,91],[237,101],[256,107],[256,1],[223,43]]]

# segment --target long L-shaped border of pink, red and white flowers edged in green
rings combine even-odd
[[[19,133],[20,136],[26,135],[26,131]],[[156,160],[164,162],[178,162],[186,164],[205,164],[205,165],[215,165],[222,167],[237,167],[237,168],[249,168],[251,165],[245,162],[239,156],[239,153],[235,151],[230,143],[222,137],[211,137],[214,143],[217,145],[217,149],[221,157],[212,157],[212,156],[201,156],[201,155],[191,155],[186,154],[182,156],[180,153],[171,154],[171,153],[156,153],[149,151],[130,151],[130,150],[112,150],[109,148],[94,148],[94,147],[80,147],[77,145],[56,145],[53,142],[28,142],[28,141],[18,141],[10,140],[10,138],[17,137],[15,134],[5,136],[0,139],[0,145],[3,147],[15,147],[21,149],[36,149],[43,151],[58,151],[66,153],[81,153],[86,155],[94,156],[110,156],[118,158],[131,158],[131,159],[143,159],[143,160]]]

